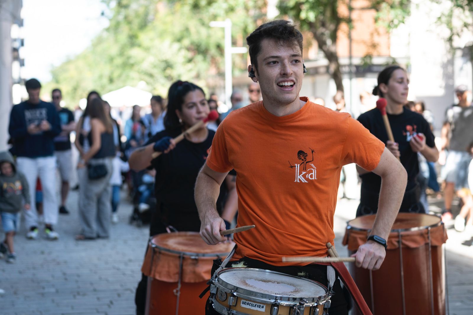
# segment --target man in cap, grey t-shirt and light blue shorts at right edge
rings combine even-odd
[[[473,141],[473,106],[468,100],[469,93],[466,85],[455,88],[458,104],[447,109],[442,127],[442,151],[447,155],[442,169],[445,181],[445,209],[442,213],[444,222],[452,219],[451,207],[455,190],[468,187],[467,170],[471,156],[467,148]]]

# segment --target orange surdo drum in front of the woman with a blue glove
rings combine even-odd
[[[146,314],[205,314],[213,260],[224,259],[235,243],[207,245],[197,232],[158,234],[149,239],[141,271],[148,277]]]

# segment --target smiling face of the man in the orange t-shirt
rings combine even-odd
[[[275,106],[298,100],[304,77],[302,52],[297,44],[264,39],[254,69],[263,100]]]

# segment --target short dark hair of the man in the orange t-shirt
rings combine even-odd
[[[261,52],[261,42],[263,39],[273,39],[281,43],[297,44],[302,53],[302,34],[291,22],[286,20],[274,20],[264,23],[246,37],[251,64],[255,70],[257,70],[256,68],[258,67],[256,57]]]

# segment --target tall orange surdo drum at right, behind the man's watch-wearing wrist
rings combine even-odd
[[[366,243],[376,215],[348,222],[343,244],[350,254]],[[447,232],[440,218],[399,213],[377,271],[351,263],[351,274],[374,315],[444,315]],[[355,314],[356,310],[355,310]]]

